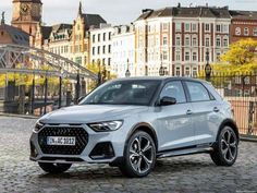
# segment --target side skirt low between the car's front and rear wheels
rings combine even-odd
[[[213,144],[203,144],[203,145],[195,145],[183,148],[158,152],[157,157],[164,158],[164,157],[184,156],[192,154],[210,153],[212,150],[213,150]]]

